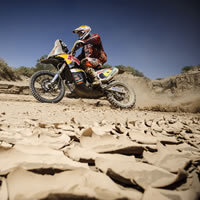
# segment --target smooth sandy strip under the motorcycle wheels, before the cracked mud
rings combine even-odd
[[[180,116],[183,118],[200,116],[191,113],[167,113],[120,110],[112,108],[106,100],[69,99],[64,97],[57,104],[40,103],[30,95],[0,94],[0,116],[7,122],[15,123],[26,119],[42,122],[66,122],[74,118],[77,122],[93,125],[105,120],[107,123],[124,123],[146,117]],[[3,114],[2,114],[3,113]]]

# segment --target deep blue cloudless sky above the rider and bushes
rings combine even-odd
[[[0,0],[0,58],[34,66],[72,30],[99,33],[108,64],[132,66],[151,79],[200,64],[199,0]]]

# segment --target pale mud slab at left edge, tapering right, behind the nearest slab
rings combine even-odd
[[[0,175],[5,175],[17,167],[24,169],[53,168],[69,170],[88,168],[87,164],[72,161],[61,151],[47,147],[16,145],[12,149],[0,149]]]

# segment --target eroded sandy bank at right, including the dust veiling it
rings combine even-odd
[[[136,105],[142,110],[200,113],[198,68],[160,80],[128,73],[119,74],[117,79],[134,88]]]

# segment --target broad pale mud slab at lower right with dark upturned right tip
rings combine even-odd
[[[143,189],[148,186],[160,188],[166,187],[175,182],[186,178],[187,174],[184,171],[179,171],[178,175],[169,173],[168,171],[152,166],[146,163],[123,160],[110,160],[106,158],[97,158],[95,160],[97,168],[107,173],[112,170],[119,177],[123,177],[130,182],[138,184]]]

